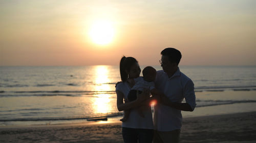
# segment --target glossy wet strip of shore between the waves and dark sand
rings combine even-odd
[[[234,104],[223,104],[223,105],[214,105],[214,106],[205,106],[205,107],[197,107],[193,112],[182,111],[183,119],[187,118],[203,118],[203,117],[214,117],[214,116],[222,116],[222,115],[232,115],[237,113],[246,113],[246,112],[256,112],[254,108],[256,103],[234,103]],[[154,112],[153,112],[154,113]],[[90,126],[95,124],[111,124],[111,123],[121,123],[119,119],[122,118],[122,115],[115,117],[108,117],[107,121],[87,121],[87,120],[69,120],[69,121],[35,121],[34,123],[31,121],[22,121],[18,123],[9,123],[2,124],[0,129],[3,128],[26,128],[26,127],[51,127],[51,126]]]

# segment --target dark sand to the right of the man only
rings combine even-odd
[[[183,119],[181,142],[256,142],[256,112]]]

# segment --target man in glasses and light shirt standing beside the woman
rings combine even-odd
[[[175,48],[165,48],[159,61],[163,70],[157,71],[156,89],[164,93],[155,105],[154,142],[179,142],[183,111],[196,107],[194,83],[178,67],[181,53]],[[186,103],[181,103],[185,98]]]

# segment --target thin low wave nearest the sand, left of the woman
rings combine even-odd
[[[92,118],[102,118],[102,117],[116,117],[121,116],[123,113],[105,113],[98,115],[87,115],[87,116],[73,116],[73,117],[49,117],[49,118],[13,118],[13,119],[0,119],[0,122],[10,122],[10,121],[59,121],[59,120],[84,120]]]

